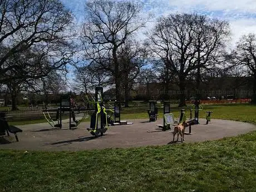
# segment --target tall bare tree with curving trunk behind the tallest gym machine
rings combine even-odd
[[[82,41],[86,58],[114,77],[116,99],[121,99],[121,63],[117,52],[127,38],[145,26],[140,4],[120,1],[93,1],[86,4]]]

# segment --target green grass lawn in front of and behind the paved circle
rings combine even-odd
[[[214,119],[256,124],[253,105],[205,105],[204,109],[201,117],[212,110]],[[143,115],[124,111],[124,119]],[[158,147],[0,151],[0,191],[256,191],[256,131],[219,141]]]

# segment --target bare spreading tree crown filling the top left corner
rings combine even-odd
[[[59,0],[0,1],[0,82],[41,78],[72,62],[72,19]],[[12,62],[21,55],[22,66]]]

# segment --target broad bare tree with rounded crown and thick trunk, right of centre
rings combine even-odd
[[[228,34],[228,23],[211,21],[198,14],[170,14],[157,21],[149,33],[152,52],[158,63],[164,63],[164,68],[168,69],[166,75],[170,72],[178,77],[179,106],[185,105],[186,79],[195,70],[199,71],[199,76],[200,68],[216,61]]]

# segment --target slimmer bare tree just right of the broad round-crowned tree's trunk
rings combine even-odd
[[[200,88],[200,70],[208,71],[225,61],[224,50],[230,40],[229,23],[205,16],[194,15],[194,47],[196,51],[196,90]],[[224,53],[223,53],[224,52]]]

